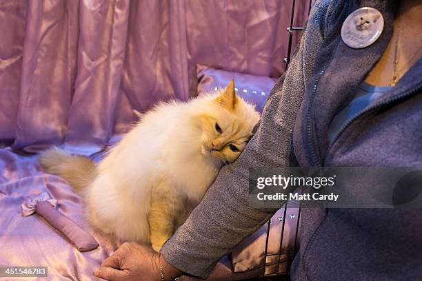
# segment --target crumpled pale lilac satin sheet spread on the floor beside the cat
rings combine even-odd
[[[36,156],[11,149],[0,149],[0,171],[0,266],[48,267],[48,280],[97,280],[92,272],[117,244],[90,228],[81,198],[66,181],[44,174]],[[43,192],[58,200],[61,214],[92,234],[99,249],[81,253],[38,216],[21,216],[22,202]]]

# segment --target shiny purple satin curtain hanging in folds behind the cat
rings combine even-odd
[[[287,0],[0,0],[0,142],[96,152],[159,100],[197,94],[196,64],[277,77]],[[295,26],[308,1],[297,1]],[[297,37],[294,37],[294,42]]]

